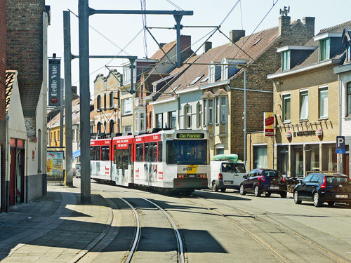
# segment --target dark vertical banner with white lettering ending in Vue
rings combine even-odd
[[[61,105],[61,60],[48,60],[48,105]]]

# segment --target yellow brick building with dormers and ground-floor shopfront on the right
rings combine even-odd
[[[277,49],[282,67],[267,77],[274,81],[275,133],[249,135],[249,169],[277,168],[288,177],[338,170],[339,92],[333,67],[345,60],[340,38],[350,25],[322,29],[305,45]]]

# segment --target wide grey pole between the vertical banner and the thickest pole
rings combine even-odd
[[[65,62],[66,185],[69,187],[73,186],[71,55],[71,18],[69,11],[63,11],[63,60]]]

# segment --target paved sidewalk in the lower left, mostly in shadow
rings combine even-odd
[[[76,262],[114,226],[114,206],[91,195],[79,203],[79,189],[49,185],[48,194],[0,214],[1,262]]]

